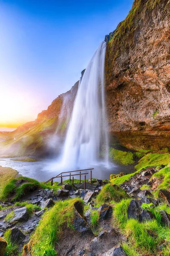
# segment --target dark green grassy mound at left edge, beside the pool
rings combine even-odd
[[[16,186],[17,180],[25,180],[26,183],[23,183],[21,186]],[[16,179],[12,179],[7,183],[1,192],[0,200],[6,201],[12,196],[11,201],[18,201],[22,196],[28,194],[31,191],[34,191],[38,188],[45,189],[47,186],[41,184],[37,180],[28,178],[28,177],[17,177]]]

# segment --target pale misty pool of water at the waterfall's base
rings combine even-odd
[[[51,177],[54,177],[61,172],[74,170],[74,169],[60,168],[55,159],[42,159],[42,160],[38,160],[37,162],[21,162],[21,161],[13,161],[11,159],[12,158],[0,159],[0,166],[10,167],[12,169],[17,170],[17,172],[19,172],[19,175],[34,178],[36,180],[39,180],[40,182],[49,180]],[[81,166],[81,168],[76,168],[76,169],[78,170],[78,169],[88,169],[88,168],[94,168],[94,170],[92,170],[92,177],[98,178],[101,180],[105,180],[105,179],[109,180],[110,174],[128,172],[126,167],[120,167],[113,163],[110,163],[109,166],[105,166],[102,163],[98,163],[97,165],[84,166],[84,168],[82,168]],[[75,174],[76,173],[78,172],[75,172]],[[86,178],[89,178],[89,177],[90,177],[90,171],[89,171],[89,174],[86,175]],[[76,176],[74,178],[76,178]],[[77,178],[79,178],[79,176],[77,176]],[[82,175],[81,178],[84,179],[84,175]],[[68,179],[68,177],[66,177],[66,179]],[[60,182],[60,179],[55,181]]]

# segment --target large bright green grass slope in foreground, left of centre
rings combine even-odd
[[[57,256],[55,245],[61,236],[61,231],[64,228],[72,227],[75,216],[73,204],[77,201],[81,200],[58,201],[54,207],[43,215],[29,244],[24,246],[23,256],[26,255],[26,250],[32,256]]]

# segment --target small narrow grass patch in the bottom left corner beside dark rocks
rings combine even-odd
[[[18,255],[18,246],[17,246],[17,244],[14,244],[11,242],[10,236],[11,236],[11,230],[9,229],[4,233],[4,238],[7,241],[5,256]]]

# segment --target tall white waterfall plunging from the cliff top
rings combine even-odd
[[[66,134],[62,166],[89,166],[99,161],[103,148],[108,163],[107,120],[104,97],[104,60],[106,43],[92,56],[78,87]]]

